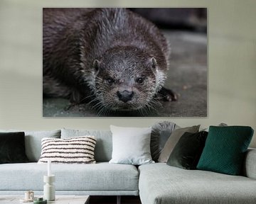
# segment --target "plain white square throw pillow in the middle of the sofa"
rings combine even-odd
[[[124,128],[110,125],[114,164],[154,163],[150,154],[151,128]]]

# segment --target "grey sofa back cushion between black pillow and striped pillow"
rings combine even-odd
[[[60,138],[60,130],[0,130],[0,132],[25,132],[25,149],[29,162],[38,162],[43,137]]]

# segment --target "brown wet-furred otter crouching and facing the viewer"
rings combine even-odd
[[[129,9],[43,8],[43,97],[99,113],[156,109],[177,99],[164,88],[169,54],[160,30]]]

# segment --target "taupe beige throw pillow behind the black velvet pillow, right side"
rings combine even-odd
[[[161,151],[158,161],[161,163],[166,163],[171,155],[171,152],[174,150],[175,145],[178,140],[185,132],[196,133],[199,130],[200,125],[195,125],[188,128],[178,128],[171,133],[171,136],[166,141],[164,149]]]

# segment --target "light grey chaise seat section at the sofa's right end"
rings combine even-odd
[[[139,166],[142,204],[251,204],[256,180],[212,171],[186,170],[164,163]]]

